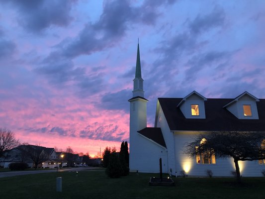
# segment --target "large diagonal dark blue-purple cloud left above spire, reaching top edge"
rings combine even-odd
[[[162,4],[157,3],[157,6]],[[133,24],[153,25],[159,15],[155,4],[147,1],[141,7],[133,7],[129,0],[105,1],[99,20],[88,23],[79,36],[61,50],[68,57],[101,51],[121,41]]]

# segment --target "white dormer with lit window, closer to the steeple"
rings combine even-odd
[[[180,108],[186,119],[205,119],[204,101],[206,100],[202,95],[193,91],[183,98],[177,107]]]

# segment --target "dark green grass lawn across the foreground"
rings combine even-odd
[[[0,178],[1,199],[265,199],[265,178],[173,178],[175,187],[149,186],[159,174],[110,179],[104,171],[58,172]],[[56,192],[56,178],[63,192]]]

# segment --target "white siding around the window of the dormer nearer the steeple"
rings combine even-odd
[[[199,115],[191,115],[191,104],[199,105]],[[179,108],[187,119],[205,119],[204,100],[196,94],[188,97]]]

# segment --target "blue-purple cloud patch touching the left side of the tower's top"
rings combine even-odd
[[[128,100],[132,98],[132,91],[121,90],[116,93],[106,93],[101,98],[101,107],[109,110],[124,110],[129,112]]]

